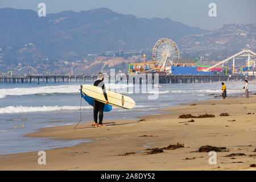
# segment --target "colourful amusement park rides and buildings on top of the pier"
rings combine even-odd
[[[245,59],[247,64],[242,67],[235,67],[236,59]],[[150,73],[158,72],[165,75],[213,75],[216,72],[245,72],[255,71],[256,53],[245,49],[218,62],[212,66],[203,66],[199,59],[180,58],[179,48],[174,40],[170,38],[159,39],[152,49],[152,61],[144,63],[129,64],[129,73]],[[229,60],[233,59],[233,68],[228,67]],[[221,65],[221,66],[220,66]],[[241,65],[241,64],[240,64]]]

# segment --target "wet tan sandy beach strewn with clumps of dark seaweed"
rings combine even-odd
[[[81,123],[75,130],[73,125],[39,129],[38,133],[25,137],[93,141],[46,150],[46,165],[38,164],[38,151],[1,155],[0,170],[255,169],[250,165],[256,163],[256,96],[193,102],[161,111],[166,113],[105,121],[106,127],[94,128],[92,123]],[[181,114],[205,113],[215,117],[178,118]],[[221,113],[229,116],[220,116]],[[188,122],[191,119],[194,122]],[[177,143],[184,147],[147,155],[150,151],[147,148]],[[217,152],[217,164],[209,164],[208,152],[196,152],[207,145],[226,147],[225,151]],[[122,155],[126,152],[133,154]]]

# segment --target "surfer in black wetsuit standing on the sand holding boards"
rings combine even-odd
[[[105,104],[108,104],[109,103],[108,96],[106,94],[105,85],[104,85],[103,80],[104,80],[104,74],[103,73],[98,73],[98,80],[96,80],[93,85],[94,86],[100,86],[102,88],[104,97],[106,99]],[[94,103],[93,103],[93,118],[94,118],[93,126],[95,126],[95,127],[106,126],[102,123],[103,110],[104,110],[105,104],[102,103],[102,102],[94,100]],[[98,113],[100,113],[100,114],[98,115]],[[99,122],[98,122],[98,119],[99,119]]]

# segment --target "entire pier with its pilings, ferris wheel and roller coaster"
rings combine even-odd
[[[130,63],[129,74],[118,73],[109,77],[111,82],[129,82],[131,84],[178,84],[217,81],[255,80],[256,53],[243,49],[212,66],[201,65],[196,58],[180,57],[179,47],[170,38],[159,39],[152,48],[152,60],[143,63]],[[114,79],[113,79],[114,78]],[[32,82],[77,82],[94,81],[97,75],[27,75],[0,76],[0,83]],[[105,78],[108,80],[108,78]]]

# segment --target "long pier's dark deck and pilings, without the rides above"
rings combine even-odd
[[[42,75],[28,75],[28,76],[0,76],[0,84],[1,83],[9,83],[9,84],[28,84],[28,83],[35,83],[35,82],[53,82],[53,83],[61,83],[61,82],[85,82],[85,81],[95,81],[97,79],[97,75],[50,75],[50,76],[42,76]],[[119,82],[120,78],[115,78],[116,82]],[[146,83],[148,79],[152,84],[155,84],[156,79],[154,75],[152,77],[142,77],[141,75],[135,75],[133,78],[130,78],[129,75],[125,77],[124,80],[130,83],[142,83],[143,79],[146,79]],[[256,80],[254,75],[244,76],[244,75],[159,75],[157,82],[159,84],[189,84],[189,83],[201,83],[201,82],[218,82],[218,81],[240,81],[245,80],[248,81]],[[105,78],[105,81],[108,78]],[[122,79],[121,79],[122,80]],[[123,80],[123,81],[124,81]],[[109,77],[110,81],[110,77]],[[122,82],[123,82],[122,81]]]

